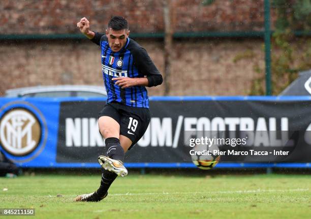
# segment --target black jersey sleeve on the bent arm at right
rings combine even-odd
[[[147,76],[148,87],[157,86],[162,84],[162,75],[153,64],[147,51],[144,48],[137,48],[133,52],[134,64],[139,73]]]

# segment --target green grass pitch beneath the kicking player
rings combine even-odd
[[[0,178],[0,208],[35,208],[35,218],[57,219],[311,217],[311,175],[209,177],[130,172],[116,179],[105,200],[73,201],[78,194],[95,191],[99,180],[100,175]]]

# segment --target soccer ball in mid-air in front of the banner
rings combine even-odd
[[[214,150],[219,150],[217,145],[208,145],[198,144],[192,148],[196,154],[191,155],[192,162],[202,170],[209,170],[216,166],[220,161],[220,155],[213,153]],[[210,151],[210,154],[207,154],[207,151]],[[199,155],[198,153],[203,153]]]

